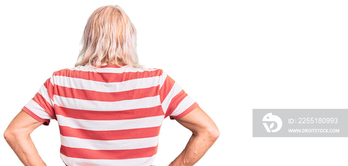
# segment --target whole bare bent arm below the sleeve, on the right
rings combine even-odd
[[[199,106],[175,120],[189,129],[192,136],[185,149],[169,166],[193,166],[218,139],[219,130]]]

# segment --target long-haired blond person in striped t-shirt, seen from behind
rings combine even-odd
[[[211,118],[161,69],[144,69],[134,25],[119,6],[88,19],[75,68],[54,72],[4,132],[25,166],[45,166],[30,133],[59,123],[67,166],[150,166],[166,117],[192,131],[170,166],[192,166],[219,137]]]

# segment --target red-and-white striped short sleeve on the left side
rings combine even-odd
[[[52,76],[41,85],[35,96],[22,108],[23,111],[34,119],[44,122],[43,125],[49,125],[50,119],[57,119],[53,107],[53,87],[54,82]]]

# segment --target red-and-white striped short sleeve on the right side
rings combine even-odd
[[[160,98],[165,118],[181,118],[191,112],[198,104],[186,94],[175,81],[163,72],[160,83]]]

